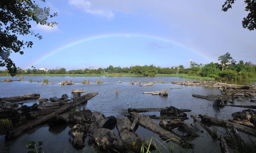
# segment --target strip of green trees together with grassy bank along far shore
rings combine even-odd
[[[220,63],[208,63],[204,66],[202,64],[194,66],[188,69],[185,69],[183,65],[176,67],[155,67],[154,65],[150,66],[132,66],[130,68],[124,67],[121,68],[109,67],[102,69],[83,69],[83,70],[69,70],[65,68],[57,70],[48,70],[48,72],[36,70],[34,66],[33,70],[27,69],[18,70],[18,74],[21,76],[107,76],[107,77],[154,77],[154,76],[180,76],[186,79],[196,79],[196,80],[241,80],[246,79],[251,82],[256,81],[256,66],[250,65],[243,60],[239,60],[239,63],[236,64],[236,61],[230,56],[230,53],[227,52],[218,58]],[[231,60],[232,59],[232,60]],[[9,75],[7,71],[0,71],[0,76]],[[98,82],[98,81],[97,81]],[[99,80],[98,83],[102,81]],[[82,83],[90,83],[90,80],[83,80]]]

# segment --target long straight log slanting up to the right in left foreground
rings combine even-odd
[[[85,94],[82,97],[78,98],[77,100],[73,101],[72,103],[63,105],[62,107],[58,108],[56,111],[52,112],[51,114],[47,114],[47,115],[38,117],[35,120],[27,121],[26,124],[20,125],[18,127],[12,127],[7,132],[5,138],[6,139],[16,138],[17,136],[21,135],[25,131],[28,131],[38,125],[46,123],[49,119],[53,118],[54,116],[56,116],[58,114],[63,114],[67,111],[70,111],[72,108],[90,100],[91,98],[95,97],[96,95],[98,95],[97,92]]]

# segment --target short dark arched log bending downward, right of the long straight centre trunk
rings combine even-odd
[[[165,129],[168,129],[169,131],[171,131],[172,129],[175,128],[183,128],[185,129],[185,132],[188,133],[189,136],[194,136],[194,137],[198,137],[198,133],[195,132],[195,130],[193,129],[193,127],[189,124],[187,124],[186,122],[183,121],[163,121],[161,120],[159,122],[159,125],[162,126]]]

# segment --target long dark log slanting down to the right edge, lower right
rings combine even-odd
[[[199,114],[198,116],[201,118],[201,122],[204,122],[206,124],[215,125],[215,126],[222,126],[222,127],[227,127],[227,128],[231,128],[231,125],[234,125],[235,128],[238,131],[241,131],[241,132],[249,134],[249,135],[256,136],[255,128],[250,128],[250,127],[245,126],[245,125],[241,125],[241,124],[238,124],[238,123],[209,117],[209,116],[206,116],[206,115]]]

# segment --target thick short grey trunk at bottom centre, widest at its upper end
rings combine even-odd
[[[129,129],[131,126],[132,123],[129,121],[128,118],[117,115],[117,130],[122,142],[135,153],[140,152],[142,145],[148,148],[149,144],[146,141],[139,138],[137,135],[135,135],[134,132],[130,132]],[[154,145],[151,145],[150,149],[155,149]]]

